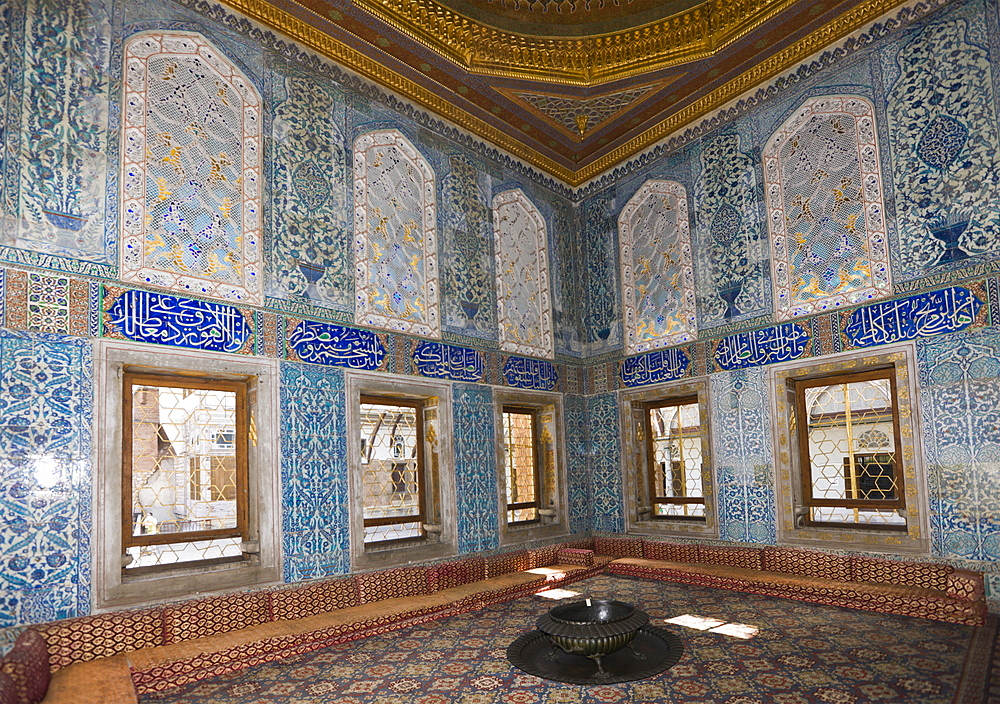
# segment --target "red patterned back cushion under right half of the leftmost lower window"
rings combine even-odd
[[[163,639],[168,644],[179,643],[256,626],[270,620],[269,607],[265,592],[223,594],[170,604],[163,609]]]

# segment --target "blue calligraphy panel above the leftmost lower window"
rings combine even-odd
[[[149,291],[126,291],[107,312],[124,337],[157,345],[239,352],[251,332],[238,308]]]

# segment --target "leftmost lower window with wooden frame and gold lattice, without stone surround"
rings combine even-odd
[[[125,372],[126,569],[242,559],[240,544],[248,538],[248,387],[247,380]],[[220,444],[227,432],[229,442]]]

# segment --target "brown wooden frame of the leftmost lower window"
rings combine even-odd
[[[236,526],[184,533],[133,535],[132,525],[132,387],[136,385],[199,391],[230,391],[236,394]],[[249,531],[249,380],[233,381],[173,374],[125,370],[122,374],[122,549],[130,547],[193,543],[221,538],[247,540]]]

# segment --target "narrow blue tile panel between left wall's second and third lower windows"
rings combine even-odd
[[[458,550],[492,550],[500,544],[493,390],[456,384],[453,403]]]

